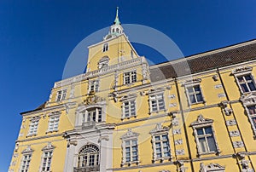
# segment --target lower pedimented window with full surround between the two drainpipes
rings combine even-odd
[[[212,119],[204,118],[202,115],[198,116],[191,126],[194,129],[195,140],[199,155],[219,152],[218,144],[212,129]]]

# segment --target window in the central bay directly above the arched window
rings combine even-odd
[[[85,122],[102,122],[102,108],[90,108],[84,111],[84,123]]]

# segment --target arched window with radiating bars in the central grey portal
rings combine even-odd
[[[79,151],[78,168],[99,170],[99,153],[100,150],[95,145],[85,145]]]

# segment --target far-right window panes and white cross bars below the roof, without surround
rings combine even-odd
[[[247,93],[255,91],[255,83],[253,82],[253,77],[251,74],[237,77],[237,81],[240,85],[242,93]]]

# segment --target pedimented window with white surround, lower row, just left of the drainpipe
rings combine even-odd
[[[164,159],[170,159],[170,160],[172,159],[172,153],[171,153],[171,147],[170,147],[170,141],[169,141],[169,135],[168,135],[169,130],[170,128],[162,127],[160,123],[157,123],[155,129],[152,129],[149,132],[152,136],[152,146],[154,151],[153,162],[157,160],[163,161]],[[157,145],[159,147],[157,147]]]

